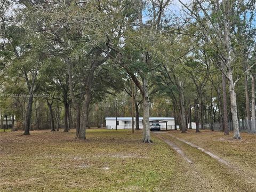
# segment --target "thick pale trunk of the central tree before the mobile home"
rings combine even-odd
[[[149,95],[148,95],[148,80],[146,78],[143,81],[143,139],[142,142],[150,143],[150,123],[149,123]]]

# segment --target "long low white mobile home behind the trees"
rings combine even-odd
[[[161,125],[161,129],[174,129],[173,117],[149,117],[150,124],[158,122]],[[106,117],[106,129],[132,129],[132,117]],[[143,117],[139,117],[139,128],[143,128]],[[134,117],[134,129],[135,129],[135,117]]]

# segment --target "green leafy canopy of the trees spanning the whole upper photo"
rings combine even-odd
[[[143,1],[142,5],[140,1],[110,0],[20,1],[16,9],[12,8],[12,1],[6,1],[3,10],[13,9],[13,15],[1,14],[4,41],[0,41],[0,93],[28,94],[36,73],[35,93],[55,94],[53,106],[65,99],[70,101],[67,71],[70,65],[75,98],[82,104],[92,64],[108,57],[93,73],[93,107],[118,95],[126,100],[123,114],[129,115],[130,98],[124,93],[125,85],[130,84],[127,71],[141,84],[143,78],[148,80],[153,106],[162,107],[162,99],[172,102],[167,105],[169,108],[175,106],[181,84],[185,108],[193,105],[199,95],[209,107],[211,97],[218,97],[219,62],[226,50],[215,29],[224,24],[222,2],[219,7],[214,1],[203,1],[202,7],[193,2],[190,9],[197,15],[186,17],[185,21],[181,15],[166,11],[170,8],[167,5],[159,25],[160,4],[153,2],[155,7],[149,1]],[[255,9],[253,1],[234,1],[231,6],[230,51],[234,81],[242,77],[236,89],[239,114],[244,116],[244,71],[255,63],[256,29],[252,25]],[[70,61],[68,65],[66,59]],[[247,71],[249,86],[255,70],[256,66]],[[3,110],[12,108],[9,113],[22,118],[26,98],[1,99],[1,102]],[[218,100],[214,102],[219,105]],[[153,114],[158,107],[152,108]]]

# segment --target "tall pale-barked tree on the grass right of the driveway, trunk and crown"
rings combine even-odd
[[[241,14],[238,10],[243,9],[242,4],[239,2],[235,3],[234,1],[222,1],[221,3],[215,1],[204,4],[204,1],[201,2],[199,0],[193,1],[193,8],[190,8],[184,3],[182,4],[188,10],[188,14],[191,18],[194,18],[199,23],[201,30],[204,31],[205,38],[209,39],[210,36],[212,39],[217,40],[215,43],[218,50],[217,56],[222,63],[219,69],[228,79],[234,138],[240,139],[235,92],[235,85],[237,84],[239,77],[234,80],[234,63],[236,58],[234,54],[234,46],[231,44],[234,39],[234,34],[231,33],[231,28],[237,25],[235,18],[239,17],[238,14]],[[205,19],[210,22],[205,23]],[[209,24],[211,28],[209,28]]]

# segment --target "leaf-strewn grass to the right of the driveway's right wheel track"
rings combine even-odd
[[[241,132],[241,140],[233,139],[233,132],[224,136],[223,132],[200,130],[188,130],[181,134],[180,131],[170,131],[175,137],[185,139],[213,154],[226,159],[231,164],[238,165],[246,172],[250,172],[256,182],[256,135]]]

